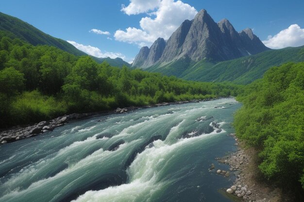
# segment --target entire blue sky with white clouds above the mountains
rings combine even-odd
[[[202,9],[236,31],[253,29],[267,47],[304,45],[304,0],[0,0],[2,13],[90,55],[127,62]]]

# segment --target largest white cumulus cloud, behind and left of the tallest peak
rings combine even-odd
[[[193,19],[197,10],[181,0],[130,0],[130,4],[121,9],[127,15],[145,13],[141,18],[140,29],[118,30],[114,37],[117,41],[150,46],[158,37],[168,39],[186,19]],[[149,13],[150,12],[150,13]]]

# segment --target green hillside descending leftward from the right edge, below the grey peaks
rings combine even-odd
[[[184,79],[200,81],[233,81],[237,84],[248,84],[263,74],[272,66],[286,62],[304,61],[303,47],[287,47],[279,50],[269,50],[256,55],[219,62],[214,66],[202,62],[194,71],[185,75]]]

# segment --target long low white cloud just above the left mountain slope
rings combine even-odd
[[[113,53],[113,52],[102,52],[98,47],[92,47],[90,45],[85,46],[83,44],[78,44],[74,41],[67,41],[68,43],[70,43],[71,45],[73,45],[74,47],[76,47],[79,50],[84,51],[85,53],[95,56],[97,58],[107,58],[110,57],[112,59],[115,58],[121,58],[122,60],[124,60],[126,57],[121,54],[121,53]]]

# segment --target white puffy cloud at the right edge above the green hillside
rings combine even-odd
[[[280,31],[274,36],[269,35],[263,43],[265,46],[274,49],[303,46],[304,29],[301,29],[297,24],[290,25],[287,29]]]

